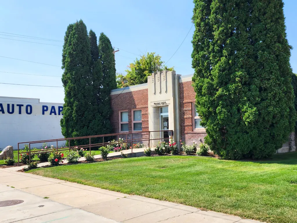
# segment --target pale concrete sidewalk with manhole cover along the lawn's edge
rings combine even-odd
[[[13,199],[24,202],[0,207],[1,222],[257,222],[172,202],[15,172],[12,168],[0,169],[0,201]],[[40,205],[45,206],[39,208]]]

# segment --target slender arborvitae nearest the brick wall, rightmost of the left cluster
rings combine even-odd
[[[111,114],[110,108],[110,91],[117,88],[116,84],[116,63],[113,54],[113,48],[109,38],[102,32],[99,37],[99,59],[102,63],[103,81],[100,89],[100,106],[101,114],[105,119],[105,126],[110,126],[109,117]],[[111,129],[110,129],[111,131]]]

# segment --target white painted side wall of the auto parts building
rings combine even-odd
[[[14,104],[13,114],[8,113],[7,104],[10,106],[10,113]],[[23,106],[17,106],[17,104]],[[31,112],[30,105],[32,113],[27,114]],[[45,111],[45,106],[48,106],[48,111]],[[64,138],[61,134],[62,114],[61,112],[59,114],[59,106],[61,110],[63,106],[61,103],[40,102],[36,98],[0,97],[0,148],[11,145],[15,150],[18,149],[18,142]],[[19,108],[21,114],[19,114]],[[37,146],[40,145],[32,147]]]

